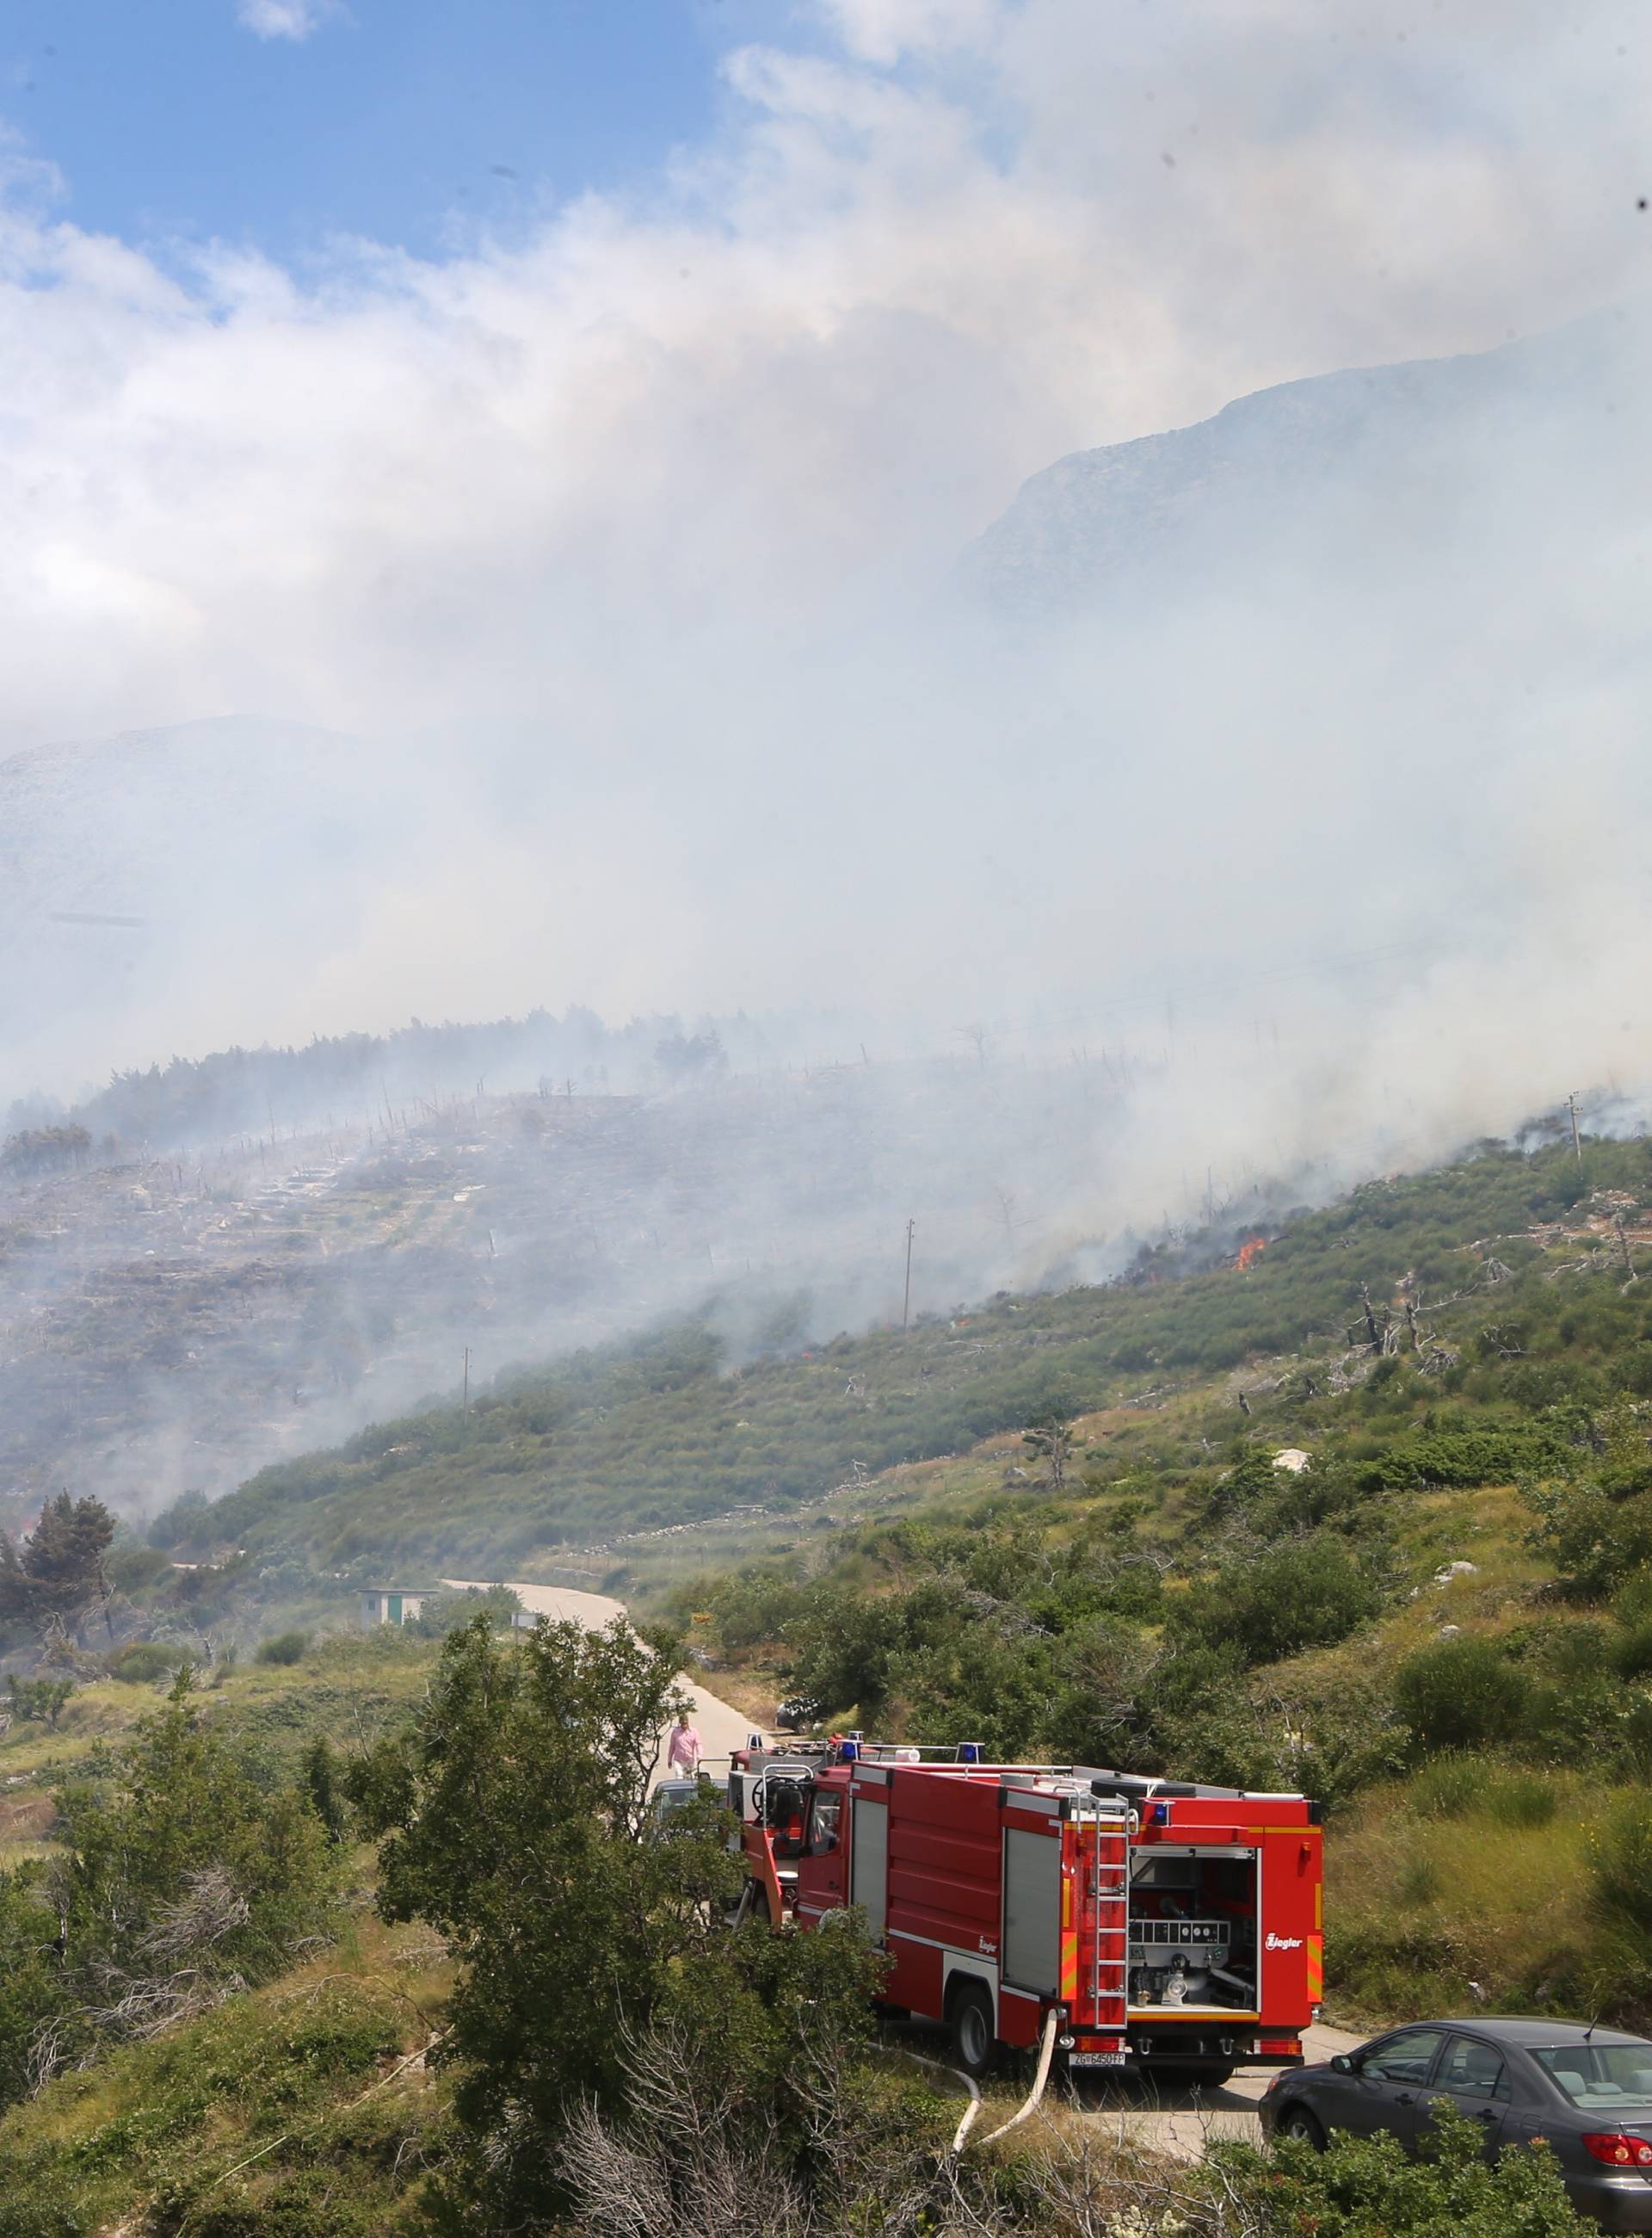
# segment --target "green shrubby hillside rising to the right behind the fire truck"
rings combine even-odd
[[[1652,1146],[1238,1242],[739,1367],[676,1325],[157,1535],[206,1602],[468,1549],[667,1609],[759,1719],[1303,1786],[1343,2019],[1652,2019]]]

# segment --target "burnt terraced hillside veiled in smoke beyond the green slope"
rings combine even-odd
[[[392,1056],[434,1068],[441,1038]],[[499,1054],[508,1036],[448,1038]],[[298,1130],[282,1103],[257,1139],[163,1150],[197,1085],[224,1112],[240,1074],[257,1076],[226,1059],[143,1074],[85,1110],[87,1135],[110,1106],[152,1121],[152,1146],[76,1148],[51,1128],[0,1144],[0,1524],[63,1484],[132,1515],[213,1497],[459,1390],[466,1354],[481,1388],[513,1361],[683,1311],[707,1311],[732,1356],[777,1327],[889,1314],[907,1215],[922,1224],[920,1303],[1025,1278],[1106,1226],[1088,1170],[1117,1097],[1072,1068],[886,1061],[680,1083],[656,1038],[638,1094],[591,1068],[555,1092],[472,1076],[463,1097],[410,1090],[403,1072],[401,1101],[378,1076],[365,1110],[340,1092]],[[1025,1175],[1010,1209],[1007,1170]]]

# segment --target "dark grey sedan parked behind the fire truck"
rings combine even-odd
[[[1325,2146],[1388,2131],[1415,2153],[1439,2104],[1482,2133],[1486,2157],[1542,2137],[1571,2204],[1609,2231],[1652,2231],[1652,2043],[1576,2021],[1426,2021],[1357,2052],[1276,2075],[1269,2137]]]

